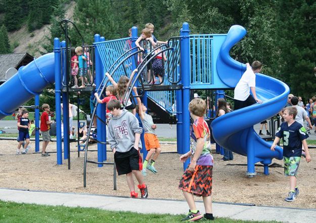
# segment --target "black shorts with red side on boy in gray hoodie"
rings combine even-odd
[[[130,173],[132,170],[143,169],[140,152],[134,147],[125,153],[115,152],[114,161],[119,175]]]

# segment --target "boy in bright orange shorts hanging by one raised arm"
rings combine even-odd
[[[134,88],[133,91],[135,93],[135,96],[138,96],[137,89]],[[141,99],[137,97],[136,112],[138,112],[138,114],[140,115],[140,118],[143,124],[143,129],[145,133],[144,135],[145,147],[146,147],[146,150],[148,151],[148,154],[143,163],[142,173],[144,176],[147,175],[146,169],[152,171],[155,174],[158,172],[156,168],[154,167],[154,164],[161,152],[159,140],[155,133],[155,129],[157,128],[157,125],[154,124],[152,116],[147,114],[146,111],[147,111],[146,106],[141,102]],[[151,163],[150,165],[147,165],[150,159],[151,159]]]

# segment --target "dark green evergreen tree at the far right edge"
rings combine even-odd
[[[282,79],[290,85],[291,93],[308,99],[315,94],[316,2],[280,1],[277,25]]]

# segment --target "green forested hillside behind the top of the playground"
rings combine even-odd
[[[72,1],[0,0],[0,51],[12,52],[7,31],[27,27],[29,32],[50,25],[46,53],[52,49],[52,37],[63,39],[59,21]],[[305,99],[315,94],[313,67],[316,66],[316,2],[313,0],[77,0],[72,20],[86,42],[95,33],[106,39],[126,37],[131,26],[139,29],[151,22],[158,39],[178,35],[183,22],[191,33],[227,33],[239,24],[246,37],[233,49],[241,62],[260,60],[263,73],[288,83],[292,92]],[[75,44],[81,44],[70,30]],[[51,41],[51,43],[49,43]]]

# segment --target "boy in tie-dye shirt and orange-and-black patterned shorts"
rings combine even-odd
[[[213,156],[211,155],[210,130],[203,116],[206,112],[206,103],[201,98],[193,99],[189,104],[189,111],[194,123],[191,129],[191,151],[180,156],[180,161],[185,162],[192,157],[179,183],[179,189],[189,205],[189,213],[182,220],[195,221],[203,215],[197,210],[194,197],[203,197],[205,207],[204,218],[213,220],[212,211],[212,169]]]

